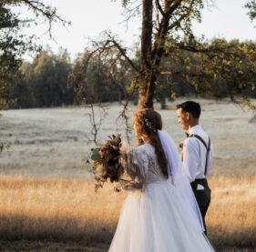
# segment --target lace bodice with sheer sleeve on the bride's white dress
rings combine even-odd
[[[128,175],[139,185],[145,186],[166,180],[163,176],[154,146],[144,144],[128,153]]]

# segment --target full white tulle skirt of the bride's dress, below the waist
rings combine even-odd
[[[169,181],[129,192],[110,252],[214,251],[195,216]]]

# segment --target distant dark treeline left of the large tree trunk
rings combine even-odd
[[[86,55],[86,53],[85,53]],[[128,76],[110,78],[108,69],[92,62],[85,70],[83,58],[70,61],[67,51],[53,54],[43,51],[32,63],[23,62],[20,75],[8,85],[5,98],[9,108],[68,106],[83,103],[112,102],[125,98]],[[86,71],[86,75],[84,73]],[[82,79],[79,79],[82,78]],[[83,82],[81,97],[77,80]]]

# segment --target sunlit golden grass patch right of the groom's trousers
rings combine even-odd
[[[210,187],[207,223],[212,242],[220,247],[254,247],[256,251],[256,176],[215,176]]]

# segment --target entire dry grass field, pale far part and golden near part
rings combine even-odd
[[[179,101],[178,101],[179,102]],[[200,100],[202,126],[214,144],[207,217],[217,251],[256,251],[256,125],[227,102]],[[99,141],[124,133],[109,106]],[[130,114],[135,110],[131,107]],[[3,111],[0,141],[0,251],[108,251],[125,192],[94,192],[83,157],[88,108]],[[176,143],[183,138],[173,110],[159,111]]]

